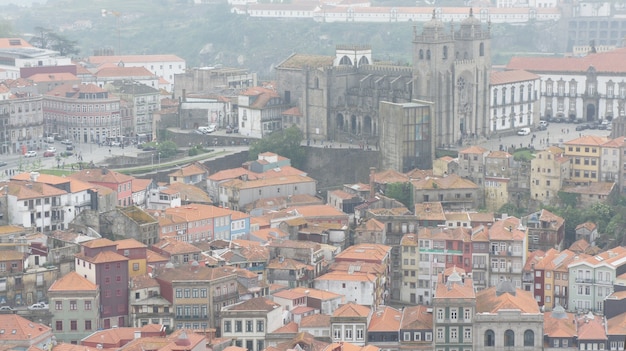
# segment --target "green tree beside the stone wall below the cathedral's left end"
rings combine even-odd
[[[273,152],[289,158],[294,167],[301,168],[306,162],[306,153],[301,145],[303,138],[302,131],[291,126],[252,143],[248,155],[250,160],[256,160],[261,153]]]

